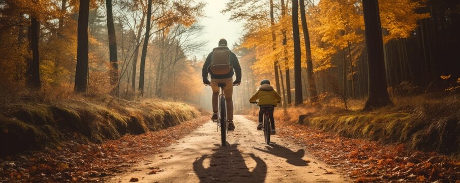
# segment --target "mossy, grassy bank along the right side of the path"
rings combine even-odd
[[[364,100],[337,99],[319,106],[275,110],[277,120],[300,124],[349,138],[404,143],[410,149],[460,154],[460,97],[419,95],[393,98],[394,106],[362,111]],[[256,115],[256,111],[253,111]],[[300,120],[299,120],[299,116]]]

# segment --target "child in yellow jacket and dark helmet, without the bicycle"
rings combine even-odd
[[[256,102],[257,100],[259,100],[257,105],[260,107],[259,125],[257,126],[257,130],[262,130],[263,114],[265,113],[265,110],[268,110],[270,113],[271,133],[276,134],[274,129],[273,110],[274,107],[276,107],[281,101],[281,96],[273,89],[273,86],[270,85],[270,81],[267,79],[260,81],[259,89],[251,97],[251,99],[249,99],[249,102]]]

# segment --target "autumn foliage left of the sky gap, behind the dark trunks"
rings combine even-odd
[[[117,59],[109,63],[109,28],[106,1],[89,1],[87,92],[105,94],[116,90],[119,97],[133,98],[139,79],[139,62],[145,42],[147,1],[111,2]],[[18,93],[26,87],[34,57],[39,59],[39,82],[44,90],[58,88],[72,93],[77,61],[77,26],[80,1],[1,1],[0,67],[3,94]],[[191,90],[179,90],[176,83],[195,72],[193,55],[204,42],[196,40],[202,31],[197,19],[203,16],[204,3],[195,1],[154,1],[151,5],[151,31],[146,52],[146,97],[169,98],[199,92],[199,78],[180,81]],[[38,25],[33,25],[38,22]],[[32,24],[32,25],[31,25]],[[34,51],[32,30],[38,26],[38,50]],[[38,52],[35,56],[33,52]],[[112,57],[110,57],[112,58]],[[114,66],[116,76],[112,77]],[[164,76],[164,77],[163,77]],[[114,80],[114,81],[111,81]],[[177,83],[177,84],[179,84]],[[29,87],[30,88],[30,87]],[[114,89],[115,88],[115,89]],[[193,89],[197,88],[197,89]],[[180,93],[182,92],[182,93]],[[183,100],[191,100],[186,98]]]

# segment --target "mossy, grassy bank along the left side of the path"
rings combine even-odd
[[[100,143],[128,133],[165,129],[201,115],[179,102],[132,102],[107,96],[4,98],[0,102],[0,156],[58,146],[64,140]]]

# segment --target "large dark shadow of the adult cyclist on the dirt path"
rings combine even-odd
[[[200,182],[264,182],[267,165],[254,154],[241,153],[237,144],[216,145],[215,153],[203,155],[193,162]]]

